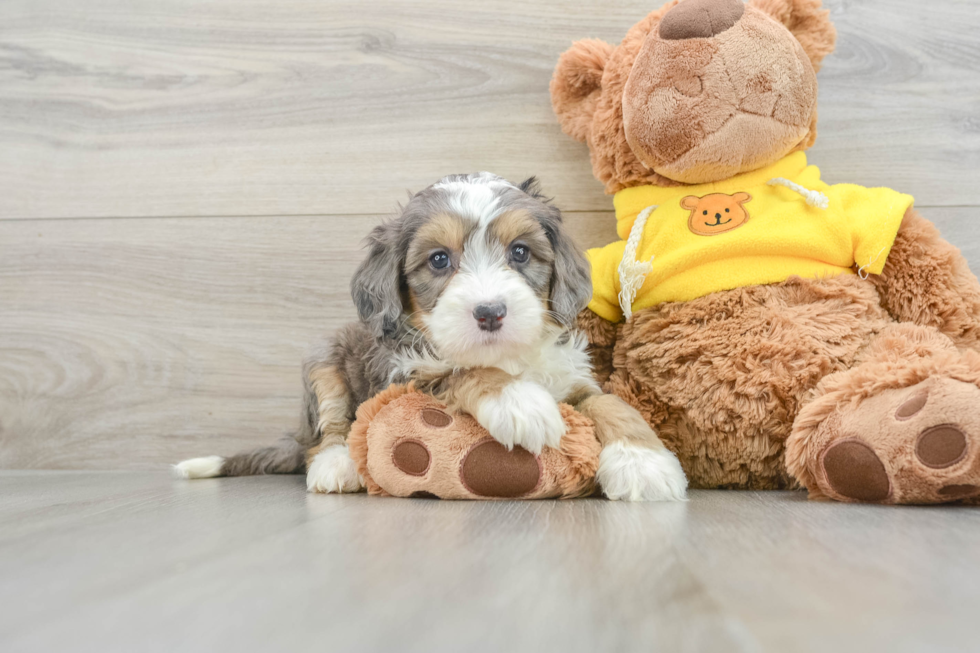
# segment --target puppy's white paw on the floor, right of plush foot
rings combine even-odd
[[[613,501],[683,501],[687,491],[687,477],[677,456],[664,447],[608,444],[599,454],[596,477]]]

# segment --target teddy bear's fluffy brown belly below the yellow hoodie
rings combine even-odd
[[[691,487],[785,488],[783,442],[803,398],[886,322],[855,276],[663,304],[623,326],[604,389],[646,417]]]

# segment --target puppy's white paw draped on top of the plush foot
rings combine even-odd
[[[508,449],[518,445],[535,455],[544,447],[557,447],[568,428],[554,398],[527,381],[509,383],[499,395],[485,398],[475,417],[500,444]]]

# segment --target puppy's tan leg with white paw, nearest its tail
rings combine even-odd
[[[319,442],[306,454],[306,487],[310,492],[360,492],[364,483],[347,448],[351,399],[347,385],[332,365],[307,371],[307,411],[315,415]]]

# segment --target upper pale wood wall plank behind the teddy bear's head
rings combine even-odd
[[[606,210],[548,81],[655,7],[517,0],[7,0],[0,217],[379,213],[451,172]],[[812,160],[920,206],[980,204],[980,5],[828,0]]]

